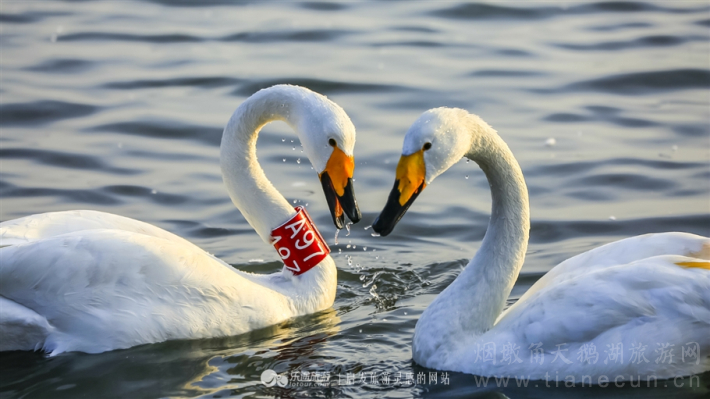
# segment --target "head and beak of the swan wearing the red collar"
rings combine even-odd
[[[345,215],[353,223],[362,218],[353,187],[355,126],[339,105],[303,90],[307,93],[298,102],[295,128],[303,151],[318,173],[333,223],[342,229]]]

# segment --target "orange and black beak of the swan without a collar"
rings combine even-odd
[[[397,175],[387,204],[372,224],[376,233],[386,236],[394,230],[394,226],[426,187],[425,178],[424,151],[402,155],[397,164]]]

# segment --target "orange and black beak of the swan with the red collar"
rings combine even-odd
[[[319,176],[328,208],[333,216],[333,223],[338,229],[345,227],[345,215],[353,223],[359,222],[362,218],[353,188],[354,169],[353,157],[346,155],[340,148],[334,147],[325,170]]]

